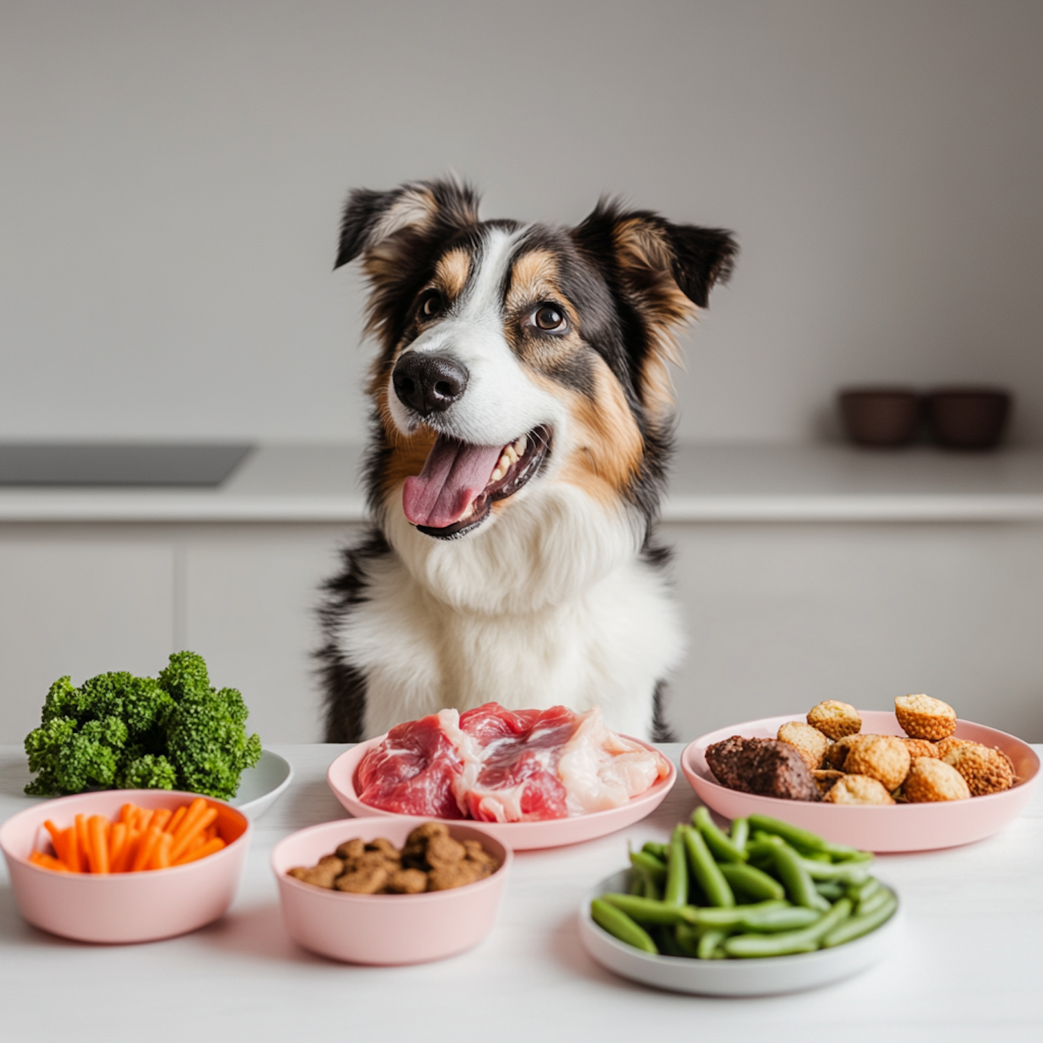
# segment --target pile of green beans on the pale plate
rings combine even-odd
[[[630,852],[630,893],[590,903],[604,930],[644,952],[697,960],[784,956],[868,935],[897,908],[868,851],[765,815],[719,828],[705,807],[669,844]]]

